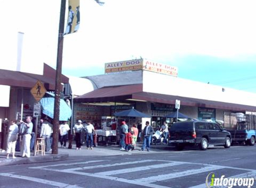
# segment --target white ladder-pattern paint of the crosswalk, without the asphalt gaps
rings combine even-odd
[[[154,165],[147,165],[147,166],[142,166],[142,167],[135,167],[135,168],[123,168],[119,170],[113,170],[113,171],[105,171],[105,172],[97,172],[97,173],[87,173],[87,172],[79,172],[80,170],[85,170],[85,169],[95,169],[95,168],[105,168],[105,167],[115,167],[115,166],[122,166],[122,165],[129,165],[129,164],[139,164],[139,163],[146,163],[146,162],[164,162],[162,164],[154,164]],[[89,163],[85,162],[85,163]],[[95,162],[95,161],[94,161]],[[182,171],[182,172],[174,172],[174,173],[169,173],[169,174],[160,174],[158,176],[150,176],[146,178],[140,178],[140,179],[135,179],[135,180],[129,180],[129,179],[124,179],[124,178],[119,178],[115,177],[113,175],[115,174],[124,174],[124,173],[129,173],[129,172],[139,172],[143,170],[150,170],[152,168],[159,168],[160,167],[168,167],[168,166],[174,166],[174,165],[181,165],[181,164],[193,164],[193,165],[202,165],[202,168],[197,168],[197,169],[191,169],[187,171]],[[61,164],[58,164],[60,166]],[[66,164],[67,165],[67,164]],[[194,174],[199,174],[203,172],[212,172],[214,170],[218,169],[235,169],[235,170],[244,170],[244,171],[251,171],[248,173],[254,173],[256,174],[256,170],[253,169],[247,169],[247,168],[236,168],[236,167],[228,167],[228,166],[221,166],[221,165],[212,165],[212,164],[207,164],[207,163],[190,163],[190,162],[181,162],[181,161],[171,161],[171,160],[142,160],[142,161],[130,161],[130,162],[124,162],[124,163],[107,163],[107,164],[101,164],[101,165],[95,165],[95,166],[85,166],[85,167],[80,167],[80,168],[67,168],[67,169],[54,169],[54,168],[49,168],[51,166],[56,166],[56,165],[48,165],[44,166],[47,168],[42,168],[39,167],[42,170],[46,171],[53,171],[53,172],[63,172],[63,173],[71,173],[71,174],[76,174],[80,176],[91,176],[95,178],[102,178],[106,180],[115,180],[119,182],[124,182],[127,184],[136,184],[136,185],[141,185],[144,187],[150,187],[150,188],[170,188],[162,185],[157,185],[154,184],[154,182],[159,182],[163,180],[169,180],[169,179],[174,179],[174,178],[179,178],[179,177],[184,177],[184,176],[190,176]],[[248,173],[243,173],[238,176],[247,176]],[[238,177],[236,176],[236,177]],[[252,175],[254,176],[254,174]],[[205,180],[204,180],[205,181]],[[196,186],[193,186],[191,188],[205,188],[206,184],[199,184]]]

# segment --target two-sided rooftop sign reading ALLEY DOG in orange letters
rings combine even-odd
[[[135,59],[105,63],[105,73],[116,73],[123,71],[148,70],[155,73],[178,76],[178,68],[171,65],[149,61],[146,59]]]

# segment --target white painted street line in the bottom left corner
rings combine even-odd
[[[6,176],[6,177],[18,178],[18,179],[22,179],[22,180],[34,181],[34,182],[41,183],[41,184],[53,185],[53,186],[56,186],[58,188],[82,188],[82,187],[79,187],[79,186],[76,186],[76,185],[63,184],[63,183],[59,183],[59,182],[56,182],[56,181],[39,179],[39,178],[34,178],[34,177],[29,177],[29,176],[19,176],[19,175],[14,175],[12,173],[0,173],[0,176]]]

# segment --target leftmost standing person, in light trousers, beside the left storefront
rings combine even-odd
[[[15,146],[18,139],[19,128],[16,124],[16,120],[11,121],[11,125],[8,129],[8,139],[7,139],[7,150],[6,158],[9,159],[9,154],[13,153],[13,159],[15,159]]]

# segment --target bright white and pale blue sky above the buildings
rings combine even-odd
[[[102,1],[80,0],[80,30],[64,36],[63,74],[104,74],[105,63],[143,57],[178,67],[180,78],[256,92],[255,0]],[[16,69],[17,32],[21,71],[56,69],[60,3],[0,0],[0,69]]]

